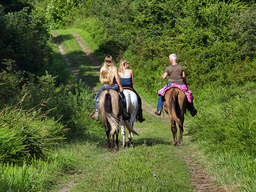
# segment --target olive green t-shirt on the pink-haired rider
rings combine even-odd
[[[182,65],[169,65],[165,72],[168,73],[169,83],[183,84],[182,72],[185,71]]]

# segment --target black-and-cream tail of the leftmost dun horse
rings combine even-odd
[[[111,126],[111,131],[109,134],[113,135],[115,132],[117,134],[119,119],[114,116],[111,95],[109,93],[105,95],[104,110],[107,116],[107,120]]]

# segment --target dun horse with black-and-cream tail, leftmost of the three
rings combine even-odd
[[[120,123],[120,116],[123,112],[122,98],[116,90],[107,89],[99,95],[99,113],[102,123],[105,127],[105,132],[108,140],[108,151],[118,151],[118,124]],[[111,126],[111,128],[110,128]],[[133,130],[130,130],[134,132]],[[136,134],[136,132],[134,132]],[[116,146],[115,146],[116,134]],[[110,143],[112,135],[112,142]]]

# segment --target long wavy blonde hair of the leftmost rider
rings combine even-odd
[[[115,76],[115,65],[113,58],[108,55],[105,58],[104,65],[100,69],[100,83],[105,85],[112,85]]]

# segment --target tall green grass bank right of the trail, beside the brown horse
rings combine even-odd
[[[194,94],[199,119],[191,119],[186,126],[205,152],[205,167],[231,191],[255,191],[255,83],[205,86]]]

